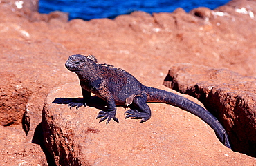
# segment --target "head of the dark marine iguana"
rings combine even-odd
[[[65,66],[68,70],[76,72],[84,70],[86,66],[95,62],[97,62],[97,59],[93,55],[84,56],[82,54],[74,54],[69,56],[68,61],[66,61],[65,63]]]

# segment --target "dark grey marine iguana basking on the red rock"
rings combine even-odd
[[[82,103],[71,102],[68,107],[78,109],[82,105],[86,106],[86,102],[89,101],[91,93],[93,93],[107,101],[107,110],[100,111],[97,118],[100,118],[100,122],[107,119],[106,123],[108,124],[111,118],[119,123],[116,118],[116,105],[127,107],[132,105],[136,109],[127,110],[125,118],[139,118],[140,122],[145,122],[151,117],[151,110],[146,102],[171,104],[191,112],[208,123],[214,129],[221,143],[231,149],[228,134],[221,123],[210,112],[193,101],[172,92],[147,87],[125,70],[114,68],[113,65],[106,63],[98,64],[93,55],[71,55],[65,66],[77,74],[83,95]]]

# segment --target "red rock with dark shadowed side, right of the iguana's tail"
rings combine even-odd
[[[226,69],[177,63],[164,85],[201,101],[225,126],[237,152],[256,154],[256,78]]]

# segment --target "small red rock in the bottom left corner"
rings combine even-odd
[[[20,125],[0,126],[0,153],[0,165],[50,164],[41,147],[31,143]]]

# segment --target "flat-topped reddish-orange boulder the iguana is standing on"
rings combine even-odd
[[[223,146],[199,118],[171,105],[149,104],[152,118],[146,123],[125,120],[122,107],[116,116],[120,123],[98,123],[95,117],[105,105],[99,98],[79,110],[68,108],[72,98],[82,96],[80,91],[78,82],[68,83],[45,101],[42,127],[57,165],[232,165],[232,158],[240,165],[255,162]]]

